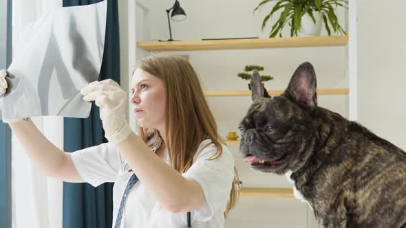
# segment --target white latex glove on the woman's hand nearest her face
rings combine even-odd
[[[125,120],[127,93],[114,80],[95,81],[81,90],[87,102],[95,101],[100,107],[100,119],[105,129],[105,137],[118,144],[132,132]]]

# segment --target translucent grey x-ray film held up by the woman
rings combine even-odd
[[[107,1],[61,8],[28,25],[14,45],[0,119],[89,116],[80,91],[100,73],[106,10]]]

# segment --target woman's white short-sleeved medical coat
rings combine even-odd
[[[210,139],[199,146],[209,144]],[[207,205],[191,212],[193,228],[224,227],[223,212],[226,209],[231,183],[234,177],[234,159],[230,150],[223,146],[222,156],[209,161],[217,148],[210,144],[193,159],[191,168],[182,175],[200,184]],[[133,172],[120,156],[114,144],[100,144],[72,153],[72,161],[81,177],[94,187],[114,182],[113,227],[116,222],[122,194]],[[169,161],[167,161],[169,162]],[[162,186],[164,187],[164,186]],[[140,181],[131,189],[123,212],[121,228],[132,227],[187,227],[186,212],[171,213],[162,208]]]

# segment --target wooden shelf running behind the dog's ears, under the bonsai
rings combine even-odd
[[[317,89],[318,95],[348,95],[349,89]],[[269,95],[279,95],[284,93],[284,90],[268,90]],[[208,97],[240,97],[249,96],[249,90],[232,90],[232,91],[204,91],[204,95]]]

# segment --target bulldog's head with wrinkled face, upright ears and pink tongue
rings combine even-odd
[[[311,113],[317,94],[312,65],[304,62],[298,67],[283,95],[270,98],[257,71],[251,89],[254,102],[239,124],[239,152],[244,161],[260,172],[298,170],[310,156],[315,135]]]

